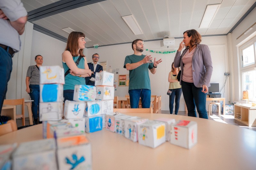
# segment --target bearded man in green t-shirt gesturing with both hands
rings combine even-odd
[[[131,108],[138,108],[141,98],[142,108],[150,107],[151,88],[148,69],[152,74],[156,73],[156,67],[162,59],[152,62],[151,55],[143,55],[143,41],[136,39],[132,42],[133,55],[127,55],[124,68],[129,70],[129,95]]]

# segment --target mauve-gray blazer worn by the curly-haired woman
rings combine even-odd
[[[177,51],[174,58],[174,67],[180,67],[181,70],[180,80],[182,80],[183,74],[182,57],[185,55],[187,50],[188,48],[184,49],[181,55],[181,51]],[[212,58],[211,52],[207,45],[197,44],[195,52],[192,56],[192,71],[193,82],[196,87],[202,87],[202,85],[210,87],[210,81],[212,77]]]

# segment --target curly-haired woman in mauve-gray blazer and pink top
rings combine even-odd
[[[201,35],[194,29],[183,33],[183,41],[174,58],[174,67],[180,67],[180,85],[188,108],[188,116],[208,119],[206,93],[212,77],[212,58],[207,45],[200,44]],[[183,50],[181,54],[182,48]]]

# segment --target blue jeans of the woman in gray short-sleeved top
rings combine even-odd
[[[29,96],[31,98],[32,101],[32,114],[33,114],[33,118],[37,119],[38,115],[37,115],[37,111],[39,114],[39,99],[40,99],[40,87],[39,85],[29,85],[29,88],[33,89],[33,92],[29,93]]]

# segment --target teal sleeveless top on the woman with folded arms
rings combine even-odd
[[[73,57],[74,62],[78,59],[79,56]],[[64,69],[64,73],[69,69],[68,65],[62,61],[62,66]],[[79,69],[84,69],[84,57],[81,58],[79,64],[77,65]],[[85,85],[84,77],[72,76],[68,74],[65,77],[65,84],[63,85],[63,90],[74,90],[75,85]]]

